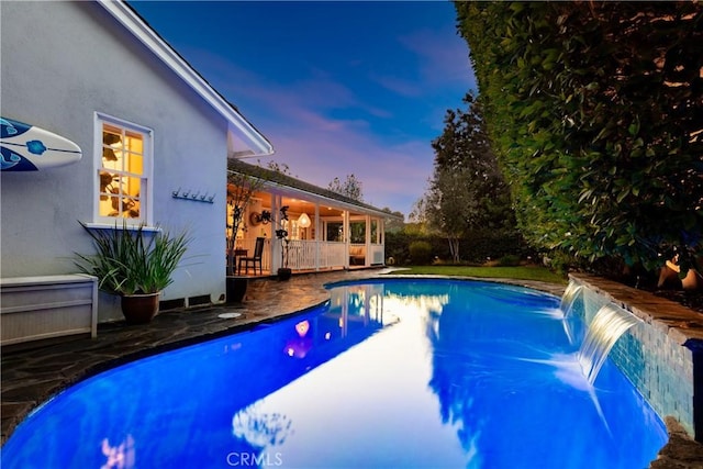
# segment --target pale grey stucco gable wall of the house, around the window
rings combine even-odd
[[[96,112],[153,131],[153,222],[189,230],[188,259],[161,300],[225,292],[227,122],[100,4],[0,2],[0,111],[76,142],[80,161],[0,176],[0,275],[76,272],[92,252],[79,225],[93,222],[100,142]],[[208,192],[214,203],[171,197]],[[120,222],[121,223],[121,222]],[[101,294],[100,321],[121,317]]]

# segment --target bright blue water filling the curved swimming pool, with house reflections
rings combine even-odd
[[[584,326],[558,308],[488,282],[342,284],[324,306],[68,389],[2,467],[647,467],[661,420],[609,361],[588,383]]]

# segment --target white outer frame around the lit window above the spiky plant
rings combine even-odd
[[[100,183],[98,171],[102,168],[102,130],[103,124],[118,126],[142,134],[144,150],[142,154],[143,187],[140,191],[140,217],[127,219],[118,216],[101,216],[99,205]],[[115,224],[122,226],[146,225],[154,226],[154,131],[140,124],[135,124],[124,119],[119,119],[102,112],[96,112],[93,119],[93,169],[92,169],[92,220],[93,227],[114,227]]]

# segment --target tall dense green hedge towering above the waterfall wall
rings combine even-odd
[[[703,235],[703,3],[455,2],[518,224],[654,268]]]

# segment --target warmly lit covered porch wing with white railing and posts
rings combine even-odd
[[[387,219],[397,217],[387,211],[349,199],[281,172],[248,165],[231,158],[231,172],[255,175],[261,180],[243,215],[237,233],[239,253],[254,253],[256,238],[264,237],[261,267],[265,273],[281,266],[281,244],[274,226],[282,206],[288,206],[288,267],[293,271],[316,271],[380,266],[384,264],[383,231]],[[230,213],[233,206],[230,203]],[[260,214],[271,213],[274,221],[263,223]],[[237,260],[235,259],[235,267]],[[239,273],[257,273],[249,269]]]

